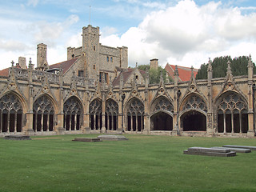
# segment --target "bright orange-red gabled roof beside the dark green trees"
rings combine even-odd
[[[178,81],[179,82],[190,81],[190,78],[191,78],[190,67],[186,67],[186,66],[177,66],[177,67],[178,67]],[[174,79],[175,66],[167,63],[165,70],[168,72],[168,75],[170,76],[170,78]],[[197,74],[198,74],[198,69],[194,69],[194,77],[196,77]]]

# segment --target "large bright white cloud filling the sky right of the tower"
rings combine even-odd
[[[150,12],[137,26],[120,37],[110,34],[102,43],[128,46],[130,65],[146,64],[150,58],[182,66],[200,67],[208,58],[252,54],[256,47],[256,14],[209,2],[198,6],[184,0],[165,10]]]

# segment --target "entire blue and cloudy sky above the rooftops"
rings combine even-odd
[[[256,62],[255,0],[0,0],[0,70],[48,46],[48,63],[82,46],[82,26],[99,26],[106,46],[128,46],[129,66],[158,58],[199,68],[208,58],[252,55]],[[90,9],[91,6],[91,9]],[[91,13],[91,14],[90,14]]]

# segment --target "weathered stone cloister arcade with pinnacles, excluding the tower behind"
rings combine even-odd
[[[9,69],[0,77],[1,134],[120,133],[254,137],[254,82],[250,60],[248,75],[233,77],[228,63],[226,78],[175,81],[158,85],[90,86],[74,73],[70,83],[63,74]],[[193,74],[193,68],[191,69]],[[125,95],[125,97],[124,97]],[[124,101],[122,99],[124,98]]]

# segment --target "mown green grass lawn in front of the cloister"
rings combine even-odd
[[[255,146],[246,138],[126,135],[0,138],[0,191],[256,191],[256,151],[236,157],[185,155],[190,146]]]

